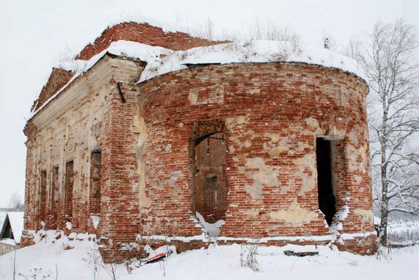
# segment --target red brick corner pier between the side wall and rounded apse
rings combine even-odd
[[[101,156],[101,220],[99,224],[102,253],[107,259],[121,257],[119,249],[134,242],[141,232],[137,142],[139,131],[136,99],[121,83],[126,103],[116,94],[116,82],[111,81],[114,93],[107,97],[102,118]],[[130,85],[130,88],[135,87]],[[134,89],[136,91],[136,89]],[[124,255],[124,254],[123,254]]]

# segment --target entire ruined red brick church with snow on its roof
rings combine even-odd
[[[229,44],[127,19],[80,52],[82,70],[54,68],[24,129],[22,245],[44,229],[96,234],[108,261],[184,251],[210,242],[200,214],[225,221],[219,245],[375,252],[362,75],[337,54]]]

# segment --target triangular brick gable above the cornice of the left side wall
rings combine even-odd
[[[53,68],[47,83],[42,87],[39,97],[34,101],[31,111],[35,111],[42,106],[51,96],[65,86],[72,76],[74,76],[74,73],[71,71]]]

